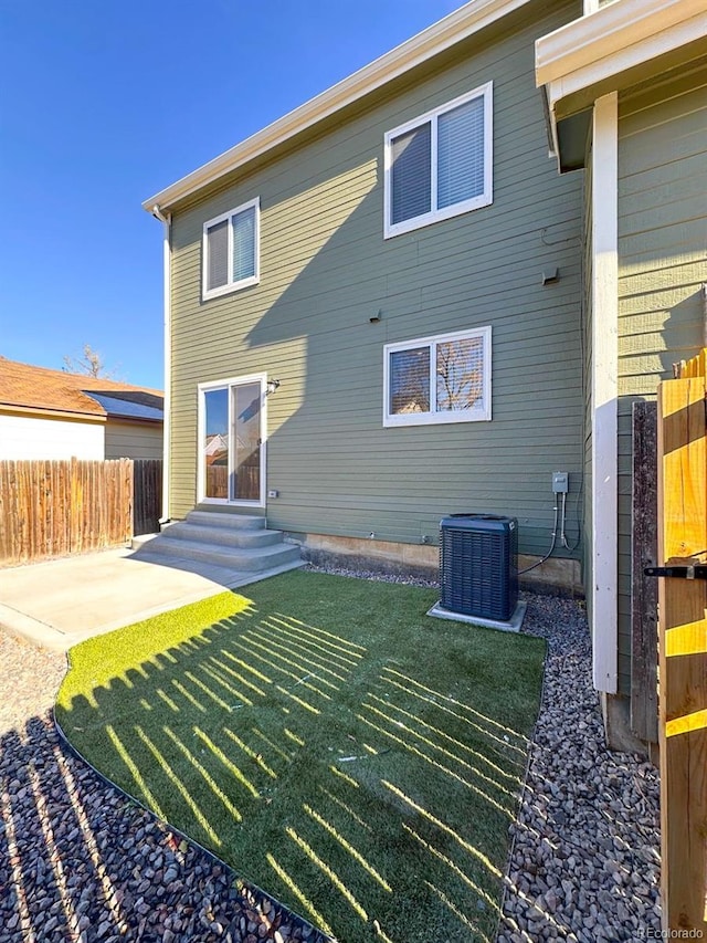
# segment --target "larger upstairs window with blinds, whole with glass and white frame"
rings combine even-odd
[[[493,202],[493,82],[386,134],[386,239]]]

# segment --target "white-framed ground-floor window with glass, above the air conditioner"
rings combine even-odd
[[[383,348],[383,426],[490,419],[490,327]]]

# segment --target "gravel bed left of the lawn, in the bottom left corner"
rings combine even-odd
[[[0,943],[326,943],[63,744],[46,706],[64,656],[2,631],[0,654]]]

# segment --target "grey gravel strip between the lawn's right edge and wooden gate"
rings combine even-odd
[[[581,605],[525,596],[523,631],[545,638],[548,653],[497,943],[657,937],[657,771],[605,745]],[[541,898],[544,886],[555,891]]]

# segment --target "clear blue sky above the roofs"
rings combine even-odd
[[[462,0],[0,0],[0,354],[162,385],[140,202]]]

